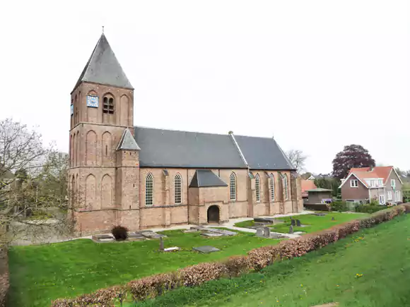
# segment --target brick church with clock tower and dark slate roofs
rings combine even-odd
[[[76,233],[303,210],[300,180],[274,138],[134,126],[134,88],[104,34],[71,92],[70,119]]]

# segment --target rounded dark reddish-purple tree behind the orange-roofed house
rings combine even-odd
[[[361,145],[347,145],[333,159],[333,176],[346,178],[352,167],[374,167],[375,160]]]

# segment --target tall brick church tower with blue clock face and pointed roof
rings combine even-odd
[[[70,211],[77,233],[139,229],[134,88],[104,34],[71,92]]]

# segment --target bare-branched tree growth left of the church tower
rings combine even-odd
[[[39,133],[0,121],[0,244],[66,224],[66,169],[66,155],[43,146]]]

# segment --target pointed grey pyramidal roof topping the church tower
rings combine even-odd
[[[95,45],[93,53],[90,59],[88,59],[86,67],[84,67],[74,89],[82,81],[134,89],[122,70],[121,65],[119,65],[119,61],[115,57],[104,33],[102,33],[100,40]]]

